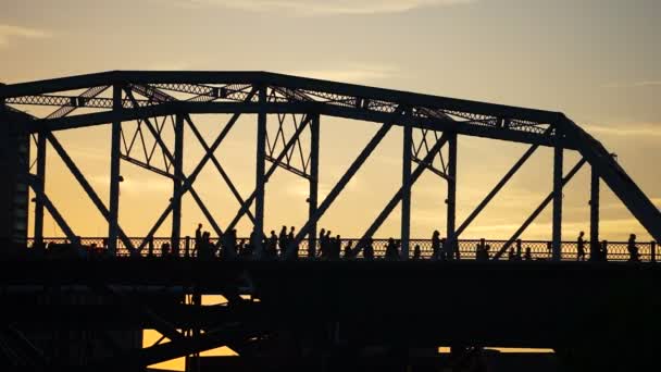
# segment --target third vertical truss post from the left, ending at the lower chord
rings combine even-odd
[[[184,187],[184,115],[176,114],[174,123],[174,179],[172,190],[172,251],[179,256],[182,237],[182,188]]]

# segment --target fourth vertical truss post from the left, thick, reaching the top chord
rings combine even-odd
[[[254,203],[254,232],[258,234],[255,241],[255,252],[258,257],[262,255],[262,234],[264,233],[264,194],[266,166],[266,87],[261,87],[259,91],[260,109],[257,119],[257,164],[255,164],[255,185],[257,190]]]

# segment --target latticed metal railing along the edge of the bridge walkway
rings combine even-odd
[[[130,241],[135,247],[139,246],[144,238],[132,237]],[[248,241],[248,238],[238,238],[238,241]],[[360,239],[358,238],[342,238],[341,249],[344,249],[349,243],[351,247],[356,247]],[[46,237],[43,238],[46,244],[65,244],[67,240],[63,237]],[[432,240],[431,239],[411,239],[410,240],[410,255],[413,256],[415,246],[420,246],[421,259],[431,259],[433,256]],[[474,260],[476,256],[477,246],[481,244],[481,239],[461,239],[458,241],[459,257],[461,260]],[[34,238],[27,239],[28,247],[34,245]],[[212,244],[217,244],[217,238],[211,239]],[[88,247],[91,250],[103,252],[107,246],[107,239],[103,237],[82,237],[80,244]],[[490,247],[489,255],[492,256],[499,251],[506,244],[507,240],[492,240],[485,239],[485,245]],[[163,247],[166,245],[172,246],[172,240],[169,237],[154,237],[151,244],[145,246],[141,250],[140,256],[142,257],[161,257],[163,256]],[[317,244],[319,245],[319,244]],[[383,258],[386,252],[388,239],[373,239],[372,247],[374,249],[375,258]],[[651,262],[657,261],[656,246],[653,241],[639,241],[636,244],[638,247],[638,253],[640,261]],[[629,253],[627,250],[628,244],[626,241],[607,241],[608,260],[609,261],[627,261]],[[516,250],[516,245],[512,244],[510,247]],[[522,256],[525,253],[526,248],[531,249],[532,260],[550,260],[551,259],[551,243],[548,240],[522,240],[521,250]],[[319,252],[319,248],[316,249]],[[589,241],[585,244],[586,260],[589,258]],[[170,248],[172,252],[172,247]],[[576,241],[562,241],[562,260],[563,261],[576,261],[577,260],[577,243]],[[129,250],[124,246],[121,240],[117,240],[117,256],[126,257],[130,256]],[[180,257],[197,257],[195,249],[195,239],[191,237],[183,237],[179,241],[178,255]],[[299,246],[299,257],[308,257],[308,240],[301,241]],[[358,255],[358,258],[362,258],[362,251]],[[508,253],[506,252],[501,260],[507,260]]]

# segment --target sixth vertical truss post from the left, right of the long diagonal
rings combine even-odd
[[[411,237],[411,142],[413,126],[404,121],[401,166],[401,258],[409,259],[409,239]]]

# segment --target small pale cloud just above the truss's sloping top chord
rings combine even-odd
[[[397,74],[397,69],[389,65],[354,63],[340,69],[296,70],[285,73],[334,82],[366,83],[392,77]]]

